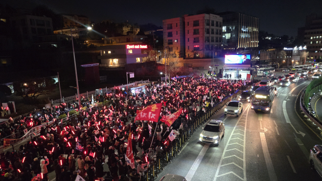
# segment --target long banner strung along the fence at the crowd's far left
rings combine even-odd
[[[48,123],[48,125],[50,126],[53,122],[50,121]],[[29,130],[26,134],[23,135],[23,137],[19,138],[19,139],[7,139],[7,138],[4,138],[3,139],[3,150],[7,149],[7,148],[10,148],[10,145],[11,144],[16,144],[18,142],[21,142],[21,141],[24,141],[24,140],[27,140],[28,138],[31,137],[31,135],[36,135],[38,136],[40,134],[40,131],[41,131],[41,128],[44,127],[46,128],[46,124],[42,124],[42,125],[39,125],[39,126],[36,126],[36,127],[33,127],[31,130]]]

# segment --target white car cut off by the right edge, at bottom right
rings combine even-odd
[[[309,162],[313,169],[322,175],[322,145],[315,145],[310,151]]]

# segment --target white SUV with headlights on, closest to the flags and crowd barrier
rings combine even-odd
[[[211,120],[201,132],[199,141],[219,145],[220,140],[225,136],[225,125],[220,120]]]

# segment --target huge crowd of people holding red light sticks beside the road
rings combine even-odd
[[[3,137],[16,137],[18,135],[14,133],[23,133],[24,129],[30,130],[37,125],[46,124],[46,127],[19,150],[1,155],[2,177],[4,181],[17,178],[47,181],[48,172],[54,171],[56,181],[74,181],[77,175],[87,181],[140,180],[149,166],[145,158],[152,159],[154,155],[162,154],[172,129],[190,126],[216,103],[255,82],[185,77],[172,81],[170,85],[164,82],[149,84],[136,94],[115,90],[110,94],[97,95],[94,100],[82,99],[83,109],[78,110],[76,121],[62,122],[58,119],[59,115],[77,108],[76,103],[61,104],[35,111],[31,116],[10,119],[0,125]],[[134,121],[136,113],[156,103],[163,105],[159,120],[163,115],[183,108],[170,128],[161,121]],[[49,124],[51,121],[53,123]],[[152,127],[152,133],[148,125]],[[134,169],[126,161],[130,133],[134,135],[131,141],[137,163]],[[138,152],[138,148],[142,152]],[[103,167],[104,164],[108,169]]]

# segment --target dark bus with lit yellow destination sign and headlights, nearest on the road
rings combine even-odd
[[[271,113],[271,108],[275,96],[275,88],[271,86],[262,86],[256,89],[252,98],[252,107],[256,113],[263,111]]]

